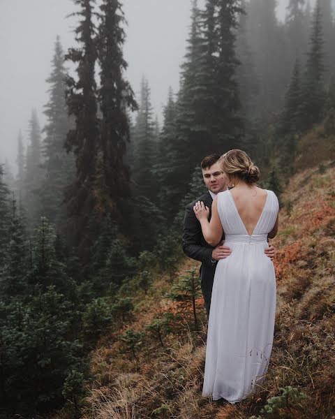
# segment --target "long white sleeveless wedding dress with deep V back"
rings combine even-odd
[[[248,235],[230,191],[218,193],[218,214],[232,254],[216,267],[202,395],[235,403],[262,381],[269,365],[276,277],[264,251],[276,222],[278,199],[267,191],[253,235]]]

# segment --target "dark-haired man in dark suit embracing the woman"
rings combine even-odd
[[[219,154],[211,154],[201,162],[202,177],[208,191],[186,206],[184,217],[183,251],[189,258],[200,260],[201,290],[204,296],[207,317],[211,307],[211,290],[213,288],[214,274],[218,260],[225,259],[232,251],[229,247],[219,243],[216,247],[211,247],[204,240],[200,222],[195,217],[193,206],[198,200],[209,207],[209,219],[211,218],[211,204],[219,192],[227,190],[227,178],[223,175],[220,165]],[[270,246],[265,250],[269,258],[274,257],[274,247]]]

